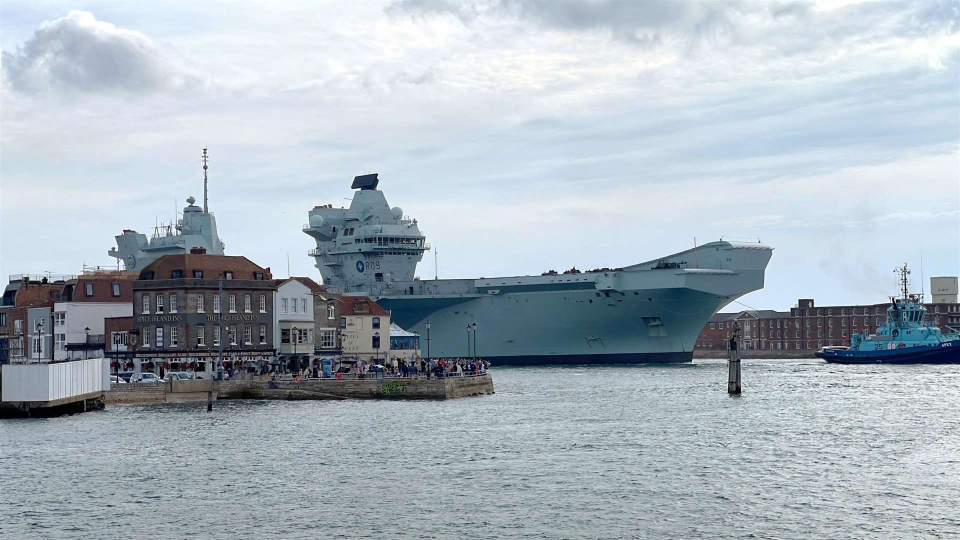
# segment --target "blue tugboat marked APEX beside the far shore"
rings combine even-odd
[[[920,295],[909,294],[906,264],[900,274],[900,298],[891,298],[887,323],[876,334],[854,333],[850,347],[824,347],[816,353],[838,364],[948,364],[960,363],[960,332],[944,333],[926,322],[926,307]]]

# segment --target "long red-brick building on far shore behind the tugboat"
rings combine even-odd
[[[960,304],[952,302],[926,304],[926,320],[941,331],[948,326],[960,328]],[[889,302],[867,306],[814,306],[812,299],[797,301],[789,311],[771,309],[717,313],[697,338],[697,351],[727,349],[733,328],[742,329],[744,349],[775,351],[809,351],[821,347],[849,346],[854,333],[876,332],[887,322]]]

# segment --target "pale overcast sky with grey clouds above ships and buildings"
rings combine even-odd
[[[306,210],[366,172],[442,278],[721,235],[776,248],[756,308],[960,273],[956,2],[3,2],[0,48],[4,278],[115,264],[204,145],[228,253],[276,277],[319,278]]]

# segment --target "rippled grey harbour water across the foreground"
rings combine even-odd
[[[447,401],[0,421],[4,538],[956,538],[960,371],[499,368]]]

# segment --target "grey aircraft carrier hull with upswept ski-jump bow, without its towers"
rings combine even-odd
[[[763,286],[772,253],[730,242],[697,251],[698,259],[718,256],[718,267],[657,268],[693,258],[691,250],[618,271],[403,282],[370,292],[398,325],[420,333],[424,356],[429,349],[495,365],[688,362],[709,317]]]

